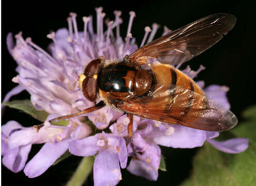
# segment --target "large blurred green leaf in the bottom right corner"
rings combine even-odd
[[[238,122],[229,135],[248,138],[248,149],[242,153],[229,154],[206,143],[194,157],[191,177],[182,184],[183,186],[244,186],[256,183],[256,106],[250,107],[243,115],[246,120]]]

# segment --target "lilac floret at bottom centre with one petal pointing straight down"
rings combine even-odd
[[[93,156],[94,185],[116,185],[121,179],[121,170],[127,164],[127,147],[123,137],[98,133],[69,143],[69,151],[76,156]]]

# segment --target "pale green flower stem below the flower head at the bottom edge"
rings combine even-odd
[[[88,175],[93,169],[94,157],[84,157],[80,162],[76,172],[74,172],[71,179],[68,181],[67,186],[80,186],[82,185]]]

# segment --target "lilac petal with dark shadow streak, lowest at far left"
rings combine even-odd
[[[25,166],[31,146],[32,144],[28,144],[9,151],[2,159],[3,165],[14,173],[20,172]]]

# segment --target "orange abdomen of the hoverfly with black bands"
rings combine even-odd
[[[200,104],[201,107],[206,106],[206,103],[204,101],[202,102],[202,100],[194,99],[198,94],[204,95],[202,89],[183,72],[169,65],[153,66],[153,72],[156,77],[157,85],[166,86],[166,88],[169,88],[170,91],[169,97],[166,98],[169,99],[168,101],[162,99],[162,96],[159,96],[159,98],[161,99],[152,100],[152,102],[150,103],[154,104],[154,102],[158,102],[160,104],[162,102],[163,104],[166,104],[164,111],[165,113],[176,115],[177,119],[183,119],[184,117],[189,116],[189,110],[191,109],[191,107],[193,108],[195,104],[197,104],[197,106],[198,104]],[[182,87],[183,89],[191,91],[178,92],[178,87]],[[162,91],[164,91],[164,88],[162,88]],[[158,92],[158,94],[162,94],[162,92]],[[182,101],[177,100],[177,94],[179,94],[179,99],[180,94],[184,94],[184,96],[182,97]],[[155,95],[155,97],[158,96]],[[182,102],[182,105],[180,105],[180,102]]]

